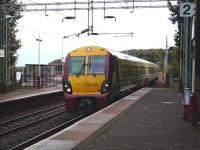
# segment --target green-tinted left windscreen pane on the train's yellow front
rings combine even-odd
[[[85,57],[70,57],[69,74],[84,74],[85,73]]]

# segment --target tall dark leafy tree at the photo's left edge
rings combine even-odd
[[[0,60],[0,93],[10,90],[16,83],[16,52],[21,47],[21,41],[16,38],[16,26],[20,10],[17,0],[0,2],[0,49],[5,49],[6,54]]]

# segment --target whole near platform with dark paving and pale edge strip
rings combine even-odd
[[[143,88],[28,150],[199,150],[200,128],[182,120],[182,96]]]

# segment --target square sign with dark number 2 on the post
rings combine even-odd
[[[195,11],[196,5],[194,3],[180,3],[180,17],[191,17]]]

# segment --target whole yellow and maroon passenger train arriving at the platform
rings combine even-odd
[[[64,62],[63,93],[68,111],[97,111],[119,93],[158,77],[157,64],[99,46],[68,53]]]

